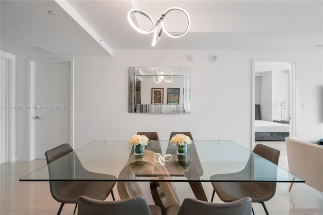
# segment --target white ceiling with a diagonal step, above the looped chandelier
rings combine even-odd
[[[64,9],[58,3],[63,4]],[[322,47],[312,46],[323,44],[321,0],[64,0],[58,3],[1,0],[0,49],[15,55],[36,55],[24,47],[39,46],[56,55],[113,55],[114,50],[120,49],[321,50]],[[64,6],[66,3],[72,9]],[[156,22],[160,14],[171,7],[185,9],[190,15],[191,27],[180,38],[161,35],[155,47],[150,45],[152,34],[138,33],[127,21],[127,13],[133,8],[145,11]],[[55,11],[57,15],[49,15],[48,11]],[[73,11],[85,23],[82,24]],[[187,23],[173,16],[179,14],[171,13],[167,15],[166,28],[173,33],[182,30]],[[142,27],[142,22],[138,22]],[[86,25],[98,36],[93,38],[89,30],[84,30]],[[108,51],[100,43],[109,46]]]

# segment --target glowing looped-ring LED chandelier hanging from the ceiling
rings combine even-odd
[[[166,28],[165,28],[165,22],[163,22],[163,19],[166,17],[166,15],[168,13],[170,13],[171,11],[174,11],[174,10],[183,12],[185,14],[186,18],[187,18],[187,28],[186,28],[186,30],[182,34],[179,34],[179,35],[173,35],[173,34],[169,33],[166,30]],[[134,24],[134,22],[132,21],[131,17],[130,17],[131,14],[141,14],[141,15],[145,16],[146,18],[148,18],[149,21],[152,24],[151,30],[145,31],[145,30],[142,30],[141,28],[139,28],[138,26],[136,26]],[[142,34],[150,34],[150,33],[153,33],[153,39],[152,39],[152,42],[151,42],[151,46],[155,46],[156,45],[156,43],[158,42],[158,40],[159,40],[159,38],[160,38],[160,36],[161,36],[161,34],[163,32],[165,32],[165,34],[168,35],[169,37],[177,38],[177,37],[184,36],[187,33],[187,31],[188,31],[188,29],[190,28],[190,25],[191,25],[190,16],[182,8],[169,8],[169,9],[167,9],[163,14],[161,14],[161,16],[159,17],[159,19],[156,22],[156,24],[154,24],[152,18],[149,16],[149,14],[147,14],[146,12],[144,12],[142,10],[139,10],[139,9],[131,9],[128,12],[127,18],[128,18],[128,22],[131,25],[131,27],[133,27],[139,33],[142,33]],[[159,27],[159,25],[160,25],[160,30],[159,30],[159,33],[157,35],[157,28]]]

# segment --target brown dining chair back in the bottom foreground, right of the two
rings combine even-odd
[[[213,203],[185,198],[181,206],[167,209],[167,215],[250,215],[251,198],[245,197],[229,203]]]

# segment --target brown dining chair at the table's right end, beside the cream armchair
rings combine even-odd
[[[270,162],[278,165],[280,151],[272,147],[257,144],[253,152],[259,156],[269,160]],[[211,176],[211,180],[225,178],[241,178],[250,176],[252,171],[252,154],[249,158],[249,161],[246,167],[237,173],[228,173],[228,174],[219,174]],[[275,170],[277,171],[277,169]],[[232,202],[237,199],[241,199],[249,196],[252,199],[252,202],[261,203],[266,214],[268,210],[264,204],[265,201],[273,198],[276,192],[276,182],[211,182],[214,188],[211,202],[214,197],[214,193],[217,192],[220,199],[224,202]],[[254,211],[252,210],[253,214]]]

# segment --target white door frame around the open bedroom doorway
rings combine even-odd
[[[254,118],[255,118],[255,64],[256,63],[286,63],[290,65],[289,71],[289,113],[290,113],[290,132],[289,134],[297,137],[296,134],[296,60],[295,59],[252,59],[252,99],[251,99],[251,149],[255,146],[254,137]]]

